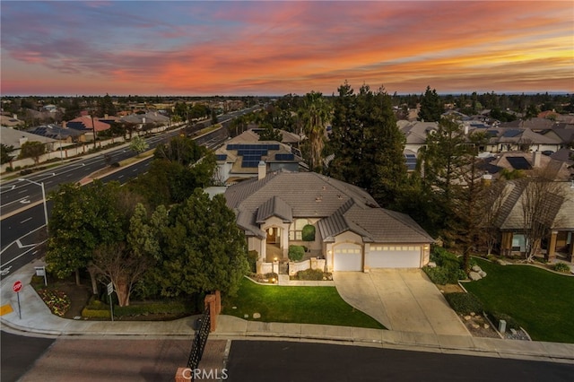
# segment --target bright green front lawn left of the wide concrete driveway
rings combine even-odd
[[[377,320],[344,302],[335,287],[259,285],[241,281],[237,297],[225,298],[222,313],[257,321],[385,329]],[[232,307],[237,307],[233,309]]]

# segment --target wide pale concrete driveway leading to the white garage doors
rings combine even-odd
[[[389,330],[470,335],[447,300],[420,269],[335,272],[343,300]]]

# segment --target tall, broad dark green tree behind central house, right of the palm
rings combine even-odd
[[[335,158],[328,173],[365,188],[383,205],[394,205],[406,180],[406,166],[404,135],[396,126],[390,96],[368,85],[354,94],[347,82],[338,91],[328,143]]]

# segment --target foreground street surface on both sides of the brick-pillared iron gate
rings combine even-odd
[[[2,333],[2,381],[172,381],[191,338],[30,338]],[[200,363],[201,369],[201,363]],[[209,373],[210,370],[205,370]],[[570,381],[574,365],[326,343],[233,341],[231,382]]]

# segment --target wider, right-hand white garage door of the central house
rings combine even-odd
[[[420,268],[421,247],[371,246],[367,265],[370,268]]]

